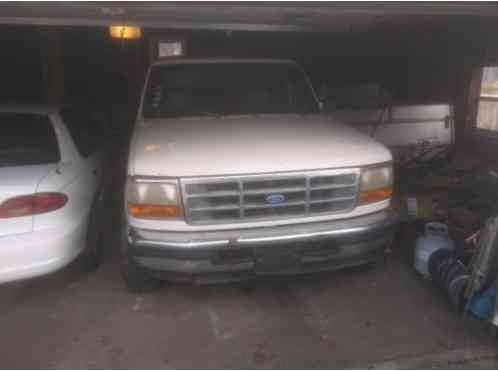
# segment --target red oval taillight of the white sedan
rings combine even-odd
[[[62,208],[67,203],[63,193],[45,192],[33,195],[9,198],[0,204],[0,218],[17,218],[21,216],[48,213]]]

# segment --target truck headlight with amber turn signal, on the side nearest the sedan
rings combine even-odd
[[[128,214],[139,219],[178,219],[183,215],[178,182],[133,180],[126,183]]]

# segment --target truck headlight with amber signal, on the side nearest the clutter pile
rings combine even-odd
[[[362,170],[360,182],[360,205],[379,202],[393,194],[392,166],[371,167]]]

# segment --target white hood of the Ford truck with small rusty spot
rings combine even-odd
[[[357,167],[386,147],[325,115],[208,116],[139,121],[130,175],[204,176]]]

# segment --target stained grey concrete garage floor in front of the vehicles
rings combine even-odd
[[[5,247],[3,247],[5,248]],[[126,291],[117,254],[0,287],[1,368],[494,368],[496,340],[391,254],[249,285]]]

